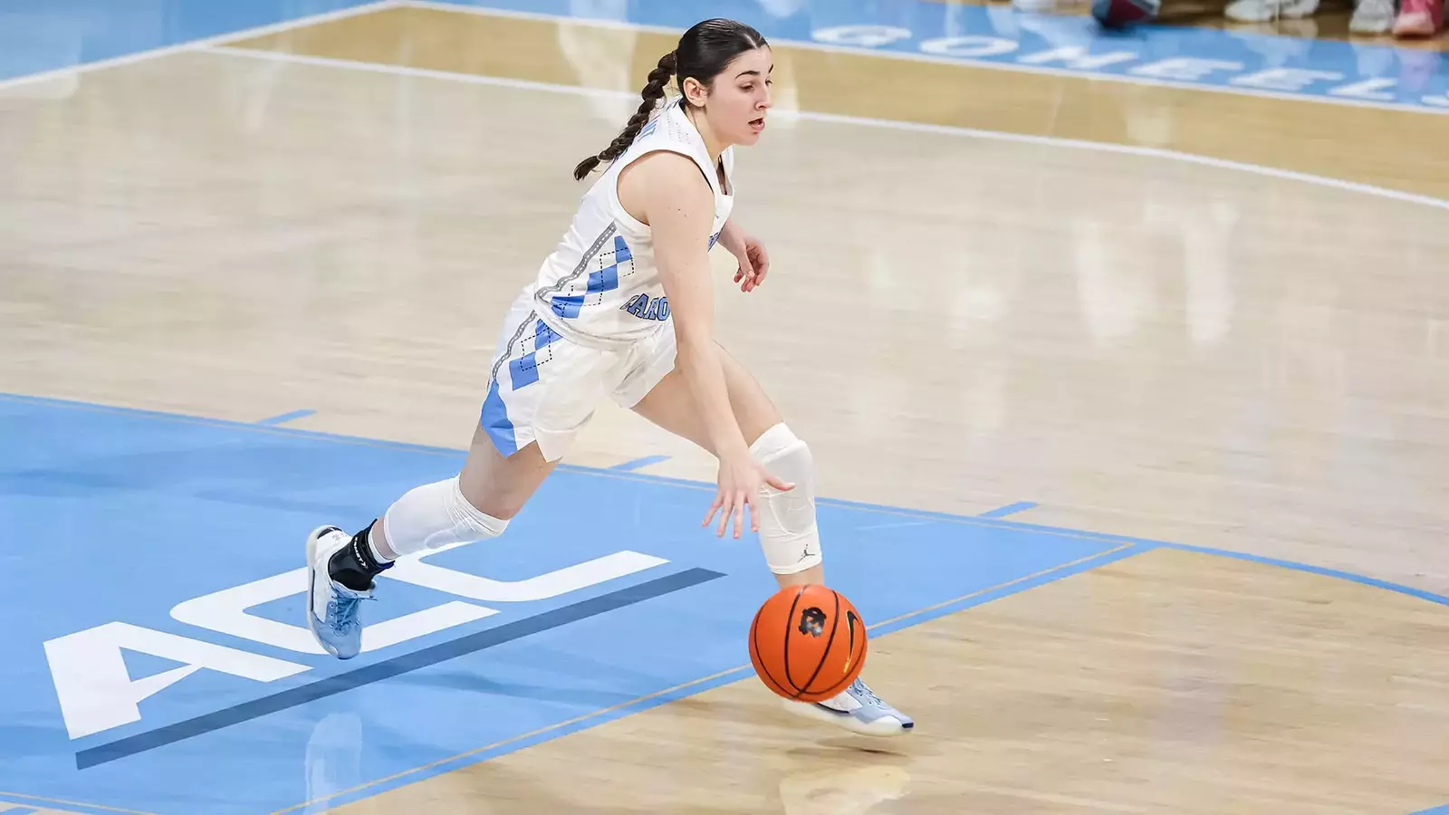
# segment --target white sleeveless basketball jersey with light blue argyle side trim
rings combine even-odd
[[[613,348],[667,328],[669,319],[649,226],[635,220],[619,203],[619,173],[625,167],[659,149],[693,158],[714,191],[710,248],[729,220],[735,203],[733,148],[720,155],[726,193],[682,102],[667,104],[584,193],[568,232],[532,283],[539,319],[572,342]]]

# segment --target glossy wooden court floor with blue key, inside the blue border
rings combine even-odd
[[[711,461],[613,406],[310,651],[303,535],[458,466],[669,41],[381,3],[0,87],[0,812],[1449,803],[1433,113],[781,45],[720,332],[917,731],[781,712]]]

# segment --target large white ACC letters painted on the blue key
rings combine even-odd
[[[454,547],[426,553],[435,555]],[[480,603],[525,603],[546,600],[616,577],[669,563],[636,551],[619,551],[526,580],[490,580],[422,561],[423,555],[398,560],[383,577],[413,583],[467,600],[449,600],[406,616],[369,625],[362,631],[362,651],[377,651],[436,634],[455,625],[498,613]],[[243,586],[222,589],[178,603],[171,616],[180,622],[262,642],[298,654],[323,654],[312,634],[290,625],[246,613],[246,609],[307,590],[307,570],[294,568]],[[145,679],[130,679],[120,650],[139,651],[183,663]],[[141,721],[139,702],[201,670],[227,673],[255,682],[275,682],[310,666],[265,657],[129,622],[107,622],[45,642],[55,695],[71,738],[93,735]]]

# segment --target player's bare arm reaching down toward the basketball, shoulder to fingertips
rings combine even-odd
[[[771,483],[781,490],[788,486],[777,483],[753,461],[729,403],[720,349],[714,342],[710,280],[714,193],[694,161],[661,151],[620,174],[619,200],[630,215],[648,223],[653,235],[653,258],[674,322],[675,365],[694,396],[720,463],[719,492],[704,522],[720,510],[719,534],[733,518],[735,537],[739,537],[746,505],[755,528],[753,509],[761,484]]]

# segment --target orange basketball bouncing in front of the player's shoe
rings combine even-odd
[[[765,687],[785,699],[823,702],[861,676],[865,621],[833,589],[781,589],[755,612],[749,661]]]

